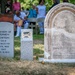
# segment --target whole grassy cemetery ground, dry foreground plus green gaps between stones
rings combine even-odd
[[[20,60],[20,38],[15,38],[13,59],[0,58],[0,75],[75,75],[75,63],[44,63],[44,36],[34,35],[34,60]]]

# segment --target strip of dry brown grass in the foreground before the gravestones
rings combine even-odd
[[[1,60],[0,75],[75,75],[75,64]]]

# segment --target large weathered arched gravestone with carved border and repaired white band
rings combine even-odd
[[[61,3],[45,18],[45,62],[75,62],[75,5]]]

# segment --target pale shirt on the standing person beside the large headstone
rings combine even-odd
[[[37,18],[44,17],[46,16],[46,6],[45,5],[38,5],[38,14]]]

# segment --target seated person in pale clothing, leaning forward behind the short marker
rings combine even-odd
[[[17,10],[15,12],[14,15],[14,23],[17,26],[17,33],[16,33],[16,37],[20,36],[21,34],[21,26],[24,25],[24,29],[28,28],[28,22],[26,22],[27,18],[25,13],[20,12],[19,10]],[[20,24],[19,24],[20,23]]]

